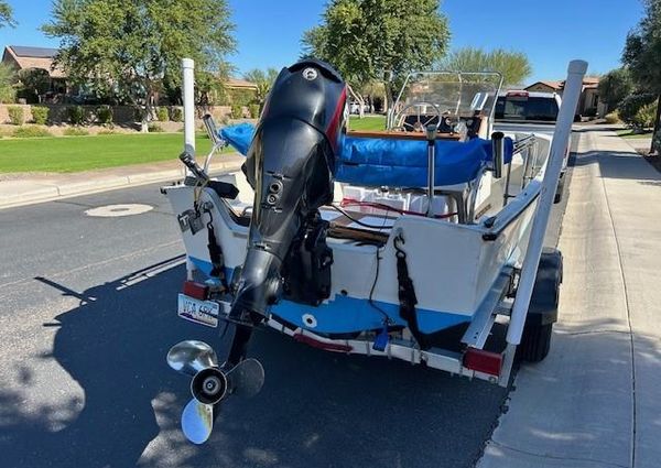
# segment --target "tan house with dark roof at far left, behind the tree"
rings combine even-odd
[[[67,92],[66,75],[61,67],[54,66],[55,55],[56,48],[8,45],[2,53],[2,63],[17,72],[35,68],[45,70],[50,78],[46,95],[64,95]]]

